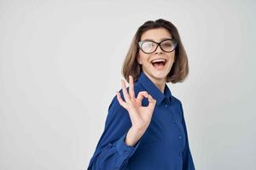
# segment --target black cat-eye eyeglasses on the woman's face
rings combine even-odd
[[[177,47],[177,40],[173,38],[165,39],[161,42],[146,40],[138,42],[138,46],[145,54],[152,54],[158,46],[160,46],[160,48],[166,53],[171,53]]]

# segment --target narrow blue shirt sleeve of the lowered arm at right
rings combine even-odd
[[[195,170],[194,161],[193,161],[190,149],[189,149],[189,138],[188,138],[186,122],[185,122],[184,114],[183,114],[183,105],[180,101],[179,101],[179,103],[180,103],[180,107],[181,107],[181,111],[182,111],[182,124],[183,124],[183,128],[184,128],[185,135],[186,135],[186,141],[187,141],[185,149],[183,150],[183,170]]]

